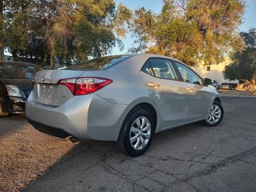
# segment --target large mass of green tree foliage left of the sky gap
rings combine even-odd
[[[113,0],[6,0],[4,44],[16,60],[70,65],[111,52],[130,15]]]

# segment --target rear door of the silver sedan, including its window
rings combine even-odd
[[[151,58],[141,69],[140,76],[159,110],[161,127],[186,122],[186,86],[178,81],[171,61]]]

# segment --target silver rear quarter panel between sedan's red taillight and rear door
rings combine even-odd
[[[95,92],[102,99],[113,103],[127,106],[122,114],[120,114],[120,119],[118,121],[121,122],[120,127],[122,127],[122,123],[125,120],[125,117],[131,111],[134,106],[147,102],[151,104],[157,112],[157,125],[156,132],[158,132],[161,125],[158,123],[159,113],[156,105],[153,100],[150,98],[148,89],[141,81],[141,77],[139,76],[140,70],[130,70],[130,69],[110,69],[110,70],[98,70],[98,71],[86,71],[82,76],[84,77],[104,77],[107,79],[111,79],[113,83],[108,84],[104,88]]]

